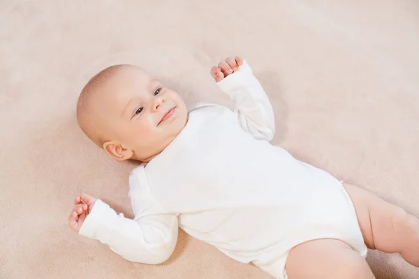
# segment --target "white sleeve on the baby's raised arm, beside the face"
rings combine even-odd
[[[247,61],[218,84],[221,91],[232,98],[240,126],[258,140],[272,140],[275,133],[274,111]]]

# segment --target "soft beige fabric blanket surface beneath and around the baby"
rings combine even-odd
[[[81,191],[132,216],[135,163],[75,121],[84,83],[114,63],[188,103],[228,104],[210,66],[244,56],[272,99],[274,144],[419,216],[419,2],[313,2],[1,1],[0,278],[270,278],[182,232],[146,266],[68,228]],[[419,278],[398,255],[368,260],[377,278]]]

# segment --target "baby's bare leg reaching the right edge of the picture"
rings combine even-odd
[[[399,252],[419,266],[419,220],[404,209],[366,190],[344,184],[355,206],[365,244],[370,249]]]

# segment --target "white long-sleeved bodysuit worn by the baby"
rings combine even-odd
[[[174,250],[179,226],[276,278],[284,278],[291,248],[305,241],[340,239],[365,256],[341,183],[270,144],[272,106],[246,61],[219,86],[234,111],[198,105],[177,138],[131,172],[135,218],[98,199],[80,234],[130,261],[158,264]]]

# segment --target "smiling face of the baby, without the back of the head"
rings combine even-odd
[[[182,98],[140,68],[124,67],[106,87],[103,98],[96,103],[96,112],[102,114],[109,129],[105,141],[112,146],[104,144],[108,153],[112,148],[116,153],[125,150],[132,152],[130,158],[148,162],[186,125]]]

